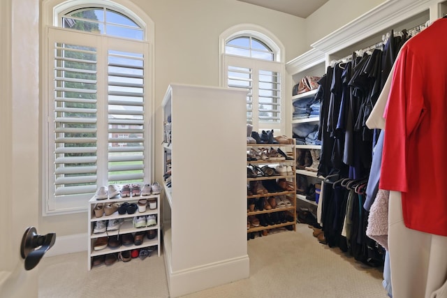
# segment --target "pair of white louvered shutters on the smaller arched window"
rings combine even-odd
[[[281,128],[280,63],[226,55],[226,87],[249,89],[247,123],[258,129]]]

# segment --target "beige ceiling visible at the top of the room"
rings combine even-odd
[[[329,0],[238,0],[257,6],[278,10],[297,17],[309,17]]]

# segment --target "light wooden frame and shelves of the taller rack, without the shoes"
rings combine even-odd
[[[278,230],[296,230],[296,173],[295,173],[295,140],[293,140],[293,144],[247,144],[247,233],[249,236],[253,236],[254,234],[258,234],[259,232],[263,232],[263,235],[268,234],[270,232],[278,231]],[[286,160],[263,160],[262,158],[257,158],[256,161],[249,161],[249,151],[250,149],[254,149],[256,151],[262,151],[262,149],[281,149],[289,158]],[[268,166],[273,169],[275,169],[277,166],[284,166],[289,167],[291,169],[291,172],[284,174],[275,174],[273,176],[263,175],[261,177],[249,177],[248,171],[249,168],[252,167],[258,167],[262,169],[262,167]],[[259,175],[258,175],[259,176]],[[289,181],[293,191],[279,191],[279,192],[269,192],[264,194],[256,194],[252,193],[251,186],[253,186],[256,183],[265,183],[265,181],[274,181],[274,184],[277,184],[279,180]],[[263,198],[286,198],[288,201],[291,202],[291,206],[289,207],[274,207],[272,209],[265,209],[260,210],[259,208],[255,208],[253,211],[249,208],[249,202],[262,200]],[[258,226],[254,226],[250,218],[261,218],[266,214],[270,218],[277,218],[279,217],[279,214],[284,211],[289,211],[290,214],[293,216],[293,221],[286,221],[281,223],[274,223],[270,225],[262,225],[262,222]],[[291,219],[291,218],[290,218]],[[287,229],[285,229],[287,228]],[[253,238],[253,237],[251,237]]]

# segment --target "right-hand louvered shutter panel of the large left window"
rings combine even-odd
[[[108,181],[144,179],[144,55],[108,52]]]

